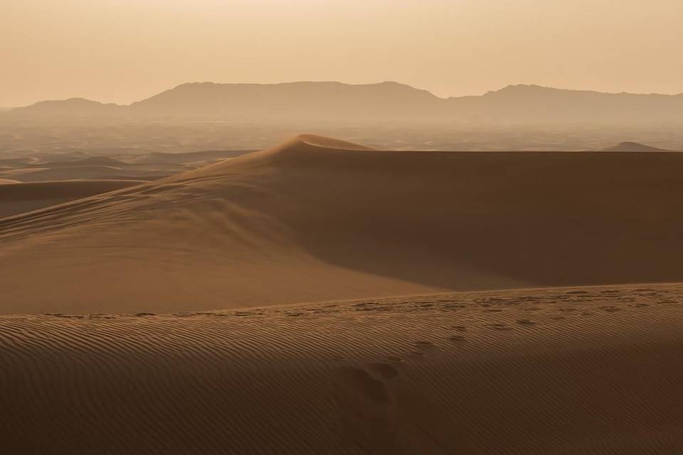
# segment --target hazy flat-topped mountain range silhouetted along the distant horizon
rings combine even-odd
[[[191,82],[127,106],[73,98],[38,102],[14,109],[4,117],[683,124],[683,94],[603,93],[509,85],[480,96],[440,98],[398,82]]]

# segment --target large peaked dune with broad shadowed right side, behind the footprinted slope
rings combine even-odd
[[[1,221],[0,311],[682,281],[681,168],[672,153],[396,152],[297,137]]]

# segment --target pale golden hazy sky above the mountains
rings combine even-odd
[[[683,92],[683,0],[0,0],[0,106],[182,82]]]

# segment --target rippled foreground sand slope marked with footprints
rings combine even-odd
[[[6,454],[679,454],[683,286],[0,317]]]

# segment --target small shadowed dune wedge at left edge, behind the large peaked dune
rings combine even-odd
[[[0,183],[2,183],[0,181]],[[0,218],[30,212],[70,200],[87,198],[128,186],[139,185],[130,180],[88,180],[19,183],[8,181],[0,186]],[[1,248],[1,247],[0,247]]]

